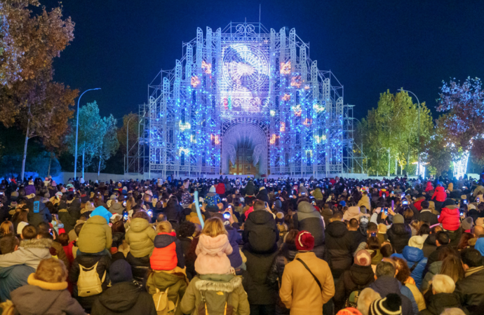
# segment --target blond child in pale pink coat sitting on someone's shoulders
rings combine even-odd
[[[232,246],[227,237],[227,230],[220,218],[210,218],[199,237],[196,246],[195,271],[199,274],[230,274],[234,268],[227,255],[232,253]]]

